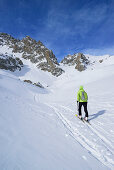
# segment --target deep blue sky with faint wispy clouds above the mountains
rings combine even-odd
[[[41,40],[61,60],[114,54],[114,0],[0,0],[0,32]]]

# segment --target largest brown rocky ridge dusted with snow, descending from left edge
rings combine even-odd
[[[59,67],[59,63],[53,52],[47,49],[41,41],[36,41],[29,36],[22,40],[0,33],[0,45],[8,45],[13,53],[22,53],[24,59],[29,59],[38,68],[51,72],[54,76],[61,75],[64,71]]]

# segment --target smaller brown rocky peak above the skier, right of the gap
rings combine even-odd
[[[78,53],[74,55],[67,55],[61,63],[69,66],[75,65],[75,69],[78,71],[84,71],[89,64],[89,60],[82,53]]]

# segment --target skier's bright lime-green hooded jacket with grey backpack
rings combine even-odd
[[[87,102],[88,96],[87,93],[84,91],[83,86],[80,86],[80,89],[77,93],[77,101],[78,102]]]

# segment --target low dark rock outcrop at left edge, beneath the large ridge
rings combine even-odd
[[[19,58],[14,58],[13,55],[8,56],[0,54],[0,69],[15,71],[21,70],[23,62]]]

